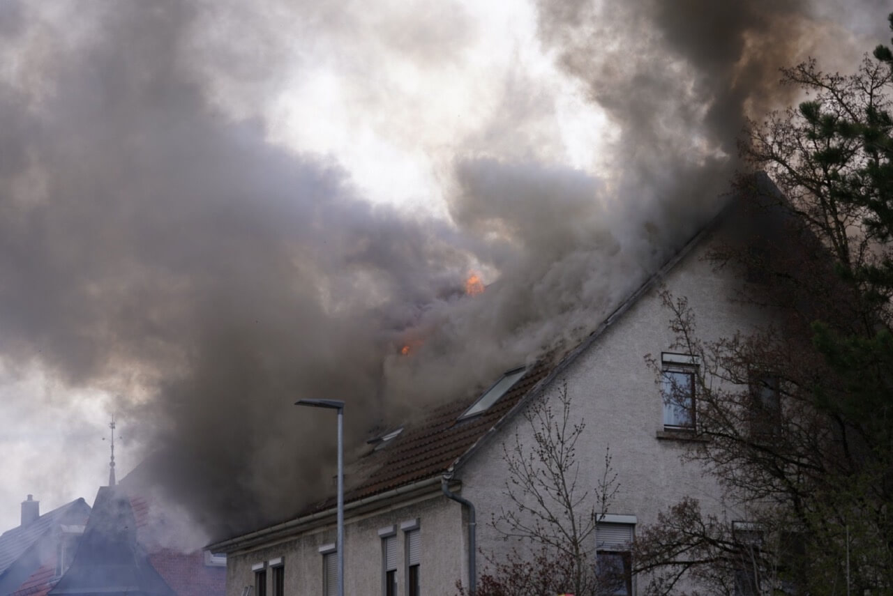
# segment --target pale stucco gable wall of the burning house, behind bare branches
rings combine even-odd
[[[765,315],[731,301],[739,280],[728,270],[714,270],[703,259],[709,244],[702,243],[689,253],[663,279],[663,286],[675,295],[688,296],[700,335],[717,338],[753,327]],[[643,295],[547,389],[547,394],[554,394],[556,385],[566,382],[572,418],[586,422],[585,436],[577,446],[580,483],[590,488],[596,485],[610,446],[620,489],[608,512],[635,515],[639,527],[655,522],[658,511],[685,496],[697,498],[708,511],[719,513],[724,507],[714,479],[697,464],[680,461],[689,443],[656,436],[663,430],[663,404],[644,357],[651,353],[659,360],[662,351],[670,351],[673,339],[668,329],[670,313],[661,304],[659,290],[656,286]],[[517,416],[457,474],[463,496],[479,511],[480,549],[497,559],[510,544],[488,522],[505,503],[503,444],[513,444],[516,433],[522,443],[532,443],[530,426]],[[740,515],[730,511],[731,518]]]

